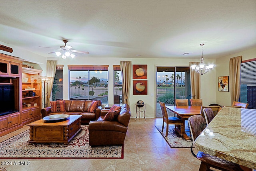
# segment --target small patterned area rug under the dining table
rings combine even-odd
[[[162,134],[162,125],[161,126],[155,126],[158,131]],[[187,131],[187,130],[186,130]],[[181,148],[190,148],[192,145],[192,139],[190,140],[185,140],[184,138],[182,138],[182,136],[180,134],[178,134],[177,132],[175,132],[174,130],[174,126],[170,126],[169,125],[169,130],[168,130],[168,136],[167,138],[165,137],[165,133],[166,133],[166,125],[164,126],[164,131],[162,136],[164,137],[164,139],[166,140],[166,142],[170,145],[170,147],[172,148],[177,148],[177,147],[181,147]]]

